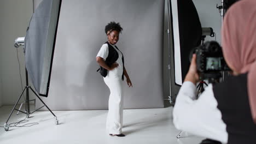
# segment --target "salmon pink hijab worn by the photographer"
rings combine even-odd
[[[222,45],[232,70],[248,73],[249,104],[256,123],[256,0],[238,1],[230,7],[224,17]]]

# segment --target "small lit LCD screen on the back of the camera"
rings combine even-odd
[[[216,71],[222,68],[222,58],[220,57],[207,57],[206,58],[206,70]]]

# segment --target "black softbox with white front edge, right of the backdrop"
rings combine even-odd
[[[170,0],[172,43],[171,95],[176,95],[189,70],[189,53],[201,43],[202,27],[192,0]],[[175,97],[175,98],[174,98]]]

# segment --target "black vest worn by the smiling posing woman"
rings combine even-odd
[[[119,56],[118,56],[118,52],[114,49],[114,47],[112,45],[110,45],[108,43],[108,41],[105,44],[108,44],[108,57],[106,58],[105,63],[108,65],[108,67],[110,67],[114,62],[117,62],[117,59]],[[115,46],[115,48],[118,49],[117,46]],[[123,55],[123,53],[122,53],[122,55]],[[123,62],[123,69],[124,69],[124,55],[122,56],[122,62]],[[100,69],[98,69],[98,70],[100,70],[100,73],[103,77],[107,76],[107,74],[108,74],[107,69],[104,69],[103,67],[100,66]],[[122,80],[124,80],[124,70],[123,70]]]

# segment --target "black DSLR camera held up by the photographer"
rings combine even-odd
[[[190,62],[193,53],[196,54],[196,67],[200,80],[219,81],[222,71],[230,70],[223,57],[222,47],[217,41],[207,41],[205,44],[195,47],[190,52]]]

